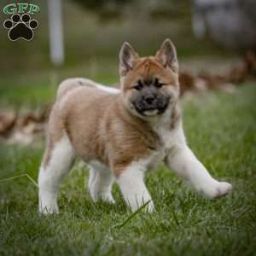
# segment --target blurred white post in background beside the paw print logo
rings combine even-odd
[[[64,61],[61,0],[48,0],[48,10],[50,59],[55,65],[61,65]]]

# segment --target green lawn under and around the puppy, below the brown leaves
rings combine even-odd
[[[38,216],[38,188],[20,177],[0,183],[0,255],[255,255],[256,87],[229,95],[207,93],[183,102],[189,145],[231,195],[209,201],[163,166],[148,173],[156,212],[131,216],[116,205],[94,204],[76,165],[61,186],[57,216]],[[43,143],[0,146],[0,178],[37,179]],[[120,224],[120,225],[118,225]]]

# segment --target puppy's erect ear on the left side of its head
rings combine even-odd
[[[136,63],[137,52],[131,47],[131,44],[125,42],[119,52],[119,73],[125,76]]]

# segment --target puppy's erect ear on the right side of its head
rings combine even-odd
[[[155,58],[163,67],[171,67],[174,72],[177,72],[177,51],[169,38],[161,45],[155,55]]]

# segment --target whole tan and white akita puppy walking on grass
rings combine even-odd
[[[227,195],[230,183],[218,182],[189,149],[179,96],[177,52],[170,39],[154,56],[140,58],[131,45],[119,53],[120,90],[88,79],[68,79],[57,92],[49,116],[47,146],[39,185],[39,212],[58,212],[57,193],[75,156],[90,166],[94,201],[114,202],[116,181],[132,211],[154,202],[144,174],[164,161],[209,198]]]

